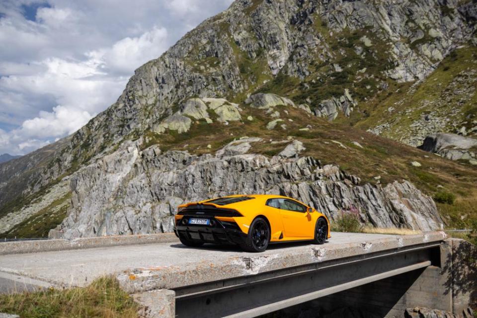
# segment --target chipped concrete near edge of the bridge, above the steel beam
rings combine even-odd
[[[393,236],[343,244],[307,245],[293,250],[277,249],[274,254],[247,254],[224,260],[202,261],[181,266],[138,268],[124,271],[117,278],[129,293],[174,289],[262,272],[301,266],[366,253],[443,241],[444,232]]]

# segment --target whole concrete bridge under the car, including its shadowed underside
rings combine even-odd
[[[461,261],[471,247],[442,232],[332,233],[323,245],[258,254],[188,248],[172,234],[10,242],[0,243],[0,290],[85,286],[112,274],[149,317],[257,317],[310,301],[381,317],[415,306],[458,314],[476,297]]]

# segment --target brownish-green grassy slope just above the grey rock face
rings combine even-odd
[[[386,184],[394,180],[407,179],[428,195],[447,191],[456,195],[453,205],[439,204],[439,209],[446,223],[452,227],[467,224],[469,219],[477,218],[477,171],[457,162],[420,151],[404,144],[367,133],[348,125],[328,122],[316,118],[303,110],[285,106],[277,107],[287,125],[283,130],[279,123],[274,130],[267,130],[266,124],[272,120],[264,110],[240,106],[243,123],[230,122],[223,125],[214,121],[207,124],[204,120],[196,121],[191,130],[184,134],[148,133],[148,147],[159,144],[166,150],[187,150],[197,155],[215,153],[225,144],[243,136],[258,136],[264,142],[253,144],[251,153],[266,156],[278,154],[285,144],[271,144],[270,139],[280,141],[293,136],[301,140],[307,150],[303,155],[320,159],[323,164],[334,163],[349,173],[358,175],[362,182]],[[288,115],[286,114],[288,111]],[[248,121],[247,116],[253,117]],[[292,119],[293,121],[289,121]],[[300,131],[310,125],[309,131]],[[341,143],[345,148],[333,141]],[[363,148],[353,144],[358,142]],[[211,148],[208,149],[207,145]],[[417,160],[422,165],[410,164]]]

